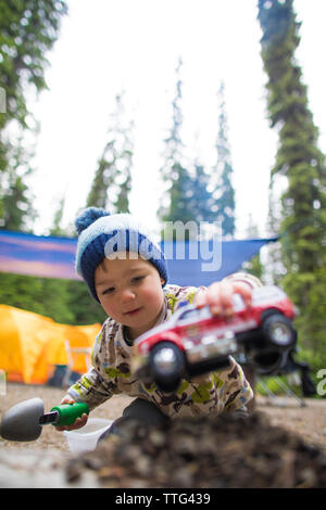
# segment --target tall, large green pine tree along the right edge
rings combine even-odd
[[[280,197],[287,271],[281,282],[300,309],[297,326],[302,344],[321,353],[326,337],[326,166],[296,60],[300,23],[293,0],[260,0],[259,21],[268,114],[279,137],[272,175],[274,180],[278,176],[287,180]]]

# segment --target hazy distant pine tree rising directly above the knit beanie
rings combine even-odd
[[[109,208],[111,213],[128,213],[134,123],[126,124],[123,94],[116,95],[115,102],[116,110],[111,115],[109,140],[97,164],[87,207],[97,206]]]

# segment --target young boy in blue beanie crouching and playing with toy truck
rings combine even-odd
[[[233,294],[251,304],[255,277],[236,273],[206,288],[167,284],[164,254],[150,232],[128,214],[110,215],[89,207],[76,219],[76,270],[87,283],[108,319],[96,339],[92,368],[72,385],[62,403],[86,401],[90,410],[116,394],[136,397],[110,433],[138,419],[151,424],[184,416],[215,416],[246,409],[252,390],[241,367],[230,358],[226,369],[193,380],[183,380],[174,393],[146,385],[130,370],[133,342],[166,321],[181,303],[210,305],[214,315],[231,316]],[[84,426],[87,416],[72,425]]]

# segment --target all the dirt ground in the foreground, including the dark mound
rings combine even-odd
[[[40,397],[45,411],[64,391],[8,384],[0,420],[14,404]],[[114,420],[131,398],[115,396],[92,411]],[[45,425],[34,442],[0,438],[0,487],[326,488],[326,399],[271,403],[256,397],[249,418],[135,421],[96,450],[74,455],[65,436]],[[174,467],[171,470],[171,467]]]

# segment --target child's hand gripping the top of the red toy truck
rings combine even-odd
[[[215,282],[206,290],[195,296],[193,304],[198,308],[209,305],[213,316],[224,315],[231,317],[234,315],[233,295],[240,294],[244,304],[250,307],[252,304],[252,288],[249,283],[242,281]]]

